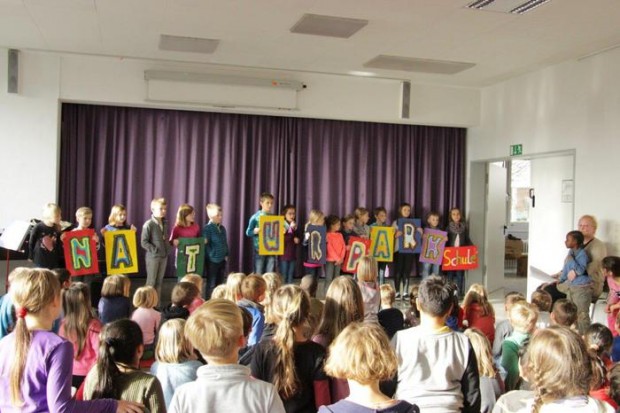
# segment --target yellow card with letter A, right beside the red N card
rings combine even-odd
[[[136,231],[106,231],[105,263],[108,275],[138,272]]]

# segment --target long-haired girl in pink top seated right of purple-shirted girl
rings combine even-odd
[[[90,292],[85,283],[73,283],[63,292],[62,309],[64,318],[58,335],[73,344],[71,385],[77,389],[97,361],[101,322],[90,306]]]

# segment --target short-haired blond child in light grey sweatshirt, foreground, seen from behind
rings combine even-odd
[[[245,342],[240,307],[211,298],[187,320],[185,335],[208,364],[198,369],[196,381],[177,388],[169,413],[284,412],[276,388],[237,364]]]

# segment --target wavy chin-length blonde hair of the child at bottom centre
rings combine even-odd
[[[325,371],[361,384],[391,379],[398,363],[385,331],[374,323],[349,324],[329,347]]]

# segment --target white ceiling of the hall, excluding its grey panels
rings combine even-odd
[[[0,0],[0,46],[350,74],[393,55],[475,63],[458,74],[372,70],[484,86],[620,45],[620,0],[551,0],[524,15],[471,0]],[[367,19],[349,39],[293,34],[304,13]],[[161,34],[219,39],[210,55],[158,50]]]

